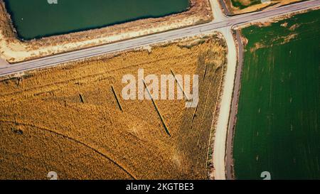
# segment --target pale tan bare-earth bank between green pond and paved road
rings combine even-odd
[[[97,45],[124,41],[138,36],[195,26],[213,20],[209,0],[190,0],[188,11],[162,18],[146,18],[89,31],[22,41],[18,39],[10,15],[0,0],[0,58],[9,63],[32,60]]]

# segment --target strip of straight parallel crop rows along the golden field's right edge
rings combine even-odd
[[[185,109],[183,114],[174,153],[174,158],[178,158],[178,163],[175,163],[178,171],[174,173],[174,178],[207,178],[213,118],[225,72],[223,56],[212,49],[199,54],[197,74],[200,99],[198,107]]]

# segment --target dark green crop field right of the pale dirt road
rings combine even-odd
[[[235,177],[320,178],[320,10],[242,29]]]

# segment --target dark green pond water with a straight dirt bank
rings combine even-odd
[[[186,11],[189,0],[5,0],[19,38],[30,40]]]

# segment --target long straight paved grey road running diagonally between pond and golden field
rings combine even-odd
[[[108,45],[100,45],[94,48],[87,48],[83,50],[76,50],[70,53],[63,53],[58,55],[49,56],[46,58],[39,58],[36,60],[30,60],[23,63],[15,63],[11,65],[0,66],[0,76],[11,75],[26,70],[34,70],[37,68],[46,68],[60,63],[66,63],[72,60],[79,60],[83,58],[90,58],[92,56],[102,55],[106,53],[114,53],[131,48],[139,48],[145,45],[154,43],[160,43],[164,41],[171,41],[176,38],[183,38],[188,36],[196,36],[201,33],[210,32],[219,28],[225,28],[228,26],[235,26],[244,23],[250,23],[252,21],[258,21],[264,18],[270,18],[274,16],[281,16],[283,14],[289,14],[294,11],[301,11],[304,9],[310,9],[316,6],[320,6],[319,0],[304,1],[298,4],[292,4],[289,6],[282,6],[277,9],[269,11],[260,11],[250,14],[243,14],[240,16],[228,17],[225,21],[210,22],[201,24],[198,26],[192,26],[188,28],[181,28],[174,31],[168,31],[164,33],[157,33],[150,36],[144,36],[140,38],[134,38],[128,41],[122,41],[119,43],[112,43]]]

